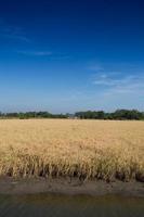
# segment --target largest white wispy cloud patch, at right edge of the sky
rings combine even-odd
[[[128,64],[127,64],[128,65]],[[121,64],[120,64],[121,66]],[[144,94],[144,73],[140,65],[129,67],[113,67],[103,64],[93,64],[89,67],[94,72],[92,84],[105,95],[109,94]],[[113,68],[113,69],[112,69]],[[117,68],[120,68],[117,69]]]

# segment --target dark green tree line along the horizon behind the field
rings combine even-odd
[[[49,112],[21,112],[21,113],[1,113],[0,118],[80,118],[80,119],[143,119],[144,112],[138,110],[116,110],[113,113],[104,111],[76,112],[75,114],[51,114]]]

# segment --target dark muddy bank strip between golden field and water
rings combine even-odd
[[[34,193],[62,193],[68,195],[107,195],[118,194],[123,196],[144,197],[143,182],[115,181],[84,181],[78,179],[13,179],[10,177],[0,178],[0,194],[34,194]]]

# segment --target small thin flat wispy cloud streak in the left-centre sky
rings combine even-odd
[[[23,55],[31,55],[31,56],[49,56],[52,55],[50,51],[17,51],[17,53]]]

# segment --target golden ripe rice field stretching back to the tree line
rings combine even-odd
[[[1,119],[0,176],[144,181],[144,122]]]

